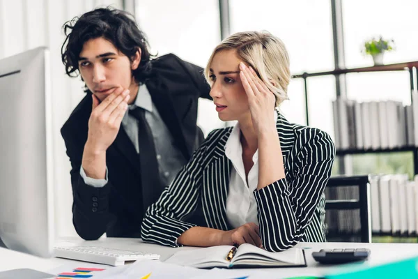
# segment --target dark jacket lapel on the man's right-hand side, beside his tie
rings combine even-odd
[[[162,121],[164,121],[171,135],[173,135],[174,143],[183,153],[183,156],[189,159],[190,154],[185,143],[183,129],[180,126],[180,121],[174,109],[173,100],[169,94],[167,85],[161,82],[160,78],[155,78],[152,81],[148,81],[146,86]]]

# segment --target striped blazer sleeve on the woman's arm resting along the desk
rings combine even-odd
[[[196,210],[201,195],[203,159],[213,131],[194,151],[189,160],[160,198],[148,207],[141,225],[141,239],[145,242],[178,247],[178,236],[196,225],[184,222]]]

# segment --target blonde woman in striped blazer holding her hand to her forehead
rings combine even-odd
[[[142,239],[268,251],[325,241],[323,191],[334,144],[275,110],[291,78],[284,44],[267,32],[235,33],[215,48],[205,73],[219,119],[238,123],[208,135],[148,208]]]

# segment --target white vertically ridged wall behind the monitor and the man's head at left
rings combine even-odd
[[[59,130],[84,96],[81,80],[65,75],[61,27],[72,17],[109,5],[122,8],[122,0],[0,0],[0,59],[41,45],[48,46],[51,54],[57,236],[77,235],[72,226],[70,163]]]

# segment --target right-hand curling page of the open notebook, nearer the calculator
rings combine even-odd
[[[278,262],[281,262],[284,265],[300,265],[304,264],[304,257],[302,249],[300,248],[290,248],[283,252],[268,252],[264,249],[245,243],[238,248],[232,262],[234,264],[238,264],[238,262],[240,264],[264,263],[265,265],[270,265],[272,263],[278,264]]]

